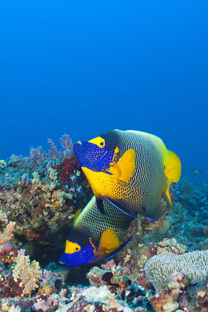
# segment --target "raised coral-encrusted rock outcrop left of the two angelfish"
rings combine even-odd
[[[12,155],[0,168],[0,220],[5,226],[0,242],[12,239],[20,248],[36,240],[55,252],[64,248],[74,212],[93,195],[69,136],[60,138],[64,151],[51,139],[49,143],[48,154],[41,146],[31,147],[30,156]]]

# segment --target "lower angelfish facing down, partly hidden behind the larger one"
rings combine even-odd
[[[66,241],[65,251],[59,263],[64,267],[76,267],[109,259],[121,251],[122,243],[133,217],[104,202],[107,215],[99,212],[95,197],[75,219]]]

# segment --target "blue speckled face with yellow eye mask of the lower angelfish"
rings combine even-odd
[[[69,241],[68,241],[69,242]],[[75,243],[71,243],[75,244]],[[79,251],[74,251],[74,250],[79,250]],[[82,266],[84,264],[88,264],[95,259],[97,259],[100,255],[94,257],[94,246],[90,242],[89,245],[85,246],[82,248],[80,245],[76,245],[75,248],[73,246],[73,251],[71,253],[66,252],[66,251],[72,251],[69,250],[69,247],[67,246],[67,241],[66,241],[66,249],[63,252],[63,254],[60,256],[60,265],[63,267],[69,267],[69,268],[74,268],[76,266]]]

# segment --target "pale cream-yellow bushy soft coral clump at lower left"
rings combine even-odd
[[[17,282],[17,279],[21,279],[20,287],[25,286],[22,290],[22,295],[29,295],[31,290],[35,290],[39,287],[36,284],[36,281],[41,275],[41,270],[39,266],[39,262],[35,260],[30,264],[29,256],[20,256],[16,260],[17,264],[13,268],[14,281]]]

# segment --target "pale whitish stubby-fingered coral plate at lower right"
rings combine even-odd
[[[208,250],[192,251],[182,255],[160,254],[150,258],[144,266],[146,276],[159,289],[167,287],[168,276],[184,272],[191,280],[204,283],[208,275]]]

